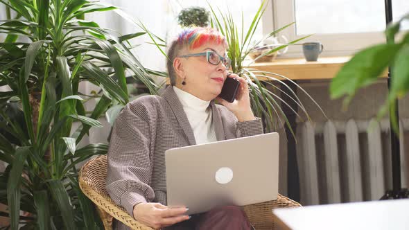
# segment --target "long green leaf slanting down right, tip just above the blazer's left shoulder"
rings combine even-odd
[[[83,62],[82,67],[87,70],[89,77],[99,82],[107,91],[118,101],[125,104],[128,100],[128,95],[119,87],[116,82],[107,75],[104,71],[99,69],[92,62]]]

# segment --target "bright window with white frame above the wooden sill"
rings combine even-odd
[[[392,0],[392,10],[396,21],[409,12],[409,1]],[[382,0],[276,0],[273,15],[276,28],[296,22],[296,26],[282,33],[289,40],[313,34],[305,41],[322,42],[322,55],[351,55],[385,40]],[[301,53],[300,46],[291,46],[287,56],[301,56]]]

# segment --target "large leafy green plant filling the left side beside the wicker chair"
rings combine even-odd
[[[116,10],[85,0],[0,0],[8,19],[0,21],[0,202],[8,206],[10,228],[97,229],[92,203],[78,187],[77,163],[105,154],[107,144],[77,148],[97,118],[113,103],[128,103],[127,78],[156,86],[130,51],[94,21],[90,12]],[[11,17],[14,18],[11,18]],[[17,41],[18,39],[18,41]],[[92,96],[78,92],[80,82],[101,87]],[[98,98],[91,112],[83,102]],[[119,109],[113,109],[116,112]],[[71,130],[74,121],[82,123]],[[20,216],[20,211],[27,213]],[[101,227],[102,228],[102,227]]]

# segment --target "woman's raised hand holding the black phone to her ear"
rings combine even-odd
[[[238,121],[251,121],[254,120],[254,114],[250,107],[250,96],[247,81],[244,78],[240,78],[235,73],[227,74],[227,78],[236,78],[240,82],[238,92],[236,94],[236,100],[233,103],[229,103],[220,97],[217,97],[222,105],[227,107],[238,119]]]

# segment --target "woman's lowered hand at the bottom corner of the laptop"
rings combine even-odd
[[[181,207],[171,209],[159,203],[140,203],[134,206],[135,220],[153,229],[162,229],[184,220],[189,220],[189,215],[184,215],[188,209]]]

